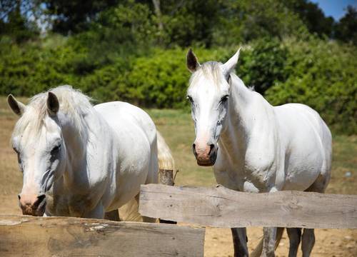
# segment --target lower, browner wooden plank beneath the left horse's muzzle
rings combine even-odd
[[[0,215],[0,256],[203,256],[204,228]]]

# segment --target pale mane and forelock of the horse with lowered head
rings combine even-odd
[[[58,86],[49,91],[59,99],[59,110],[69,116],[80,136],[85,136],[84,134],[87,131],[84,116],[93,109],[89,96],[82,94],[81,91],[73,89],[69,85]],[[49,91],[37,94],[30,99],[29,104],[26,106],[26,111],[16,123],[12,137],[23,134],[24,131],[29,133],[26,136],[39,136],[44,126],[44,120],[49,116],[46,104]],[[61,121],[59,122],[61,123]]]

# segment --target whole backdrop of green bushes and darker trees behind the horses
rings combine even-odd
[[[356,20],[307,0],[0,0],[0,94],[71,84],[97,101],[188,108],[188,46],[223,62],[241,45],[247,86],[357,133]]]

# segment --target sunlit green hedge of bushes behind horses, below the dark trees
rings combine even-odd
[[[33,96],[71,84],[97,101],[129,101],[157,108],[187,108],[188,49],[114,51],[91,46],[93,34],[49,36],[29,44],[0,40],[0,94]],[[104,44],[104,43],[103,43]],[[108,43],[109,44],[109,43]],[[109,46],[108,46],[109,47]],[[199,61],[228,60],[237,46],[193,47]],[[237,74],[271,104],[299,102],[316,109],[336,131],[357,132],[356,47],[310,38],[259,39],[243,46]]]

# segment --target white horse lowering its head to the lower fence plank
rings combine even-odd
[[[156,128],[136,106],[119,101],[92,106],[71,86],[38,94],[27,106],[11,95],[8,103],[20,116],[11,141],[24,174],[19,194],[24,214],[107,213],[117,220],[119,207],[138,201],[141,184],[157,183]]]

